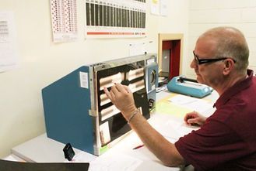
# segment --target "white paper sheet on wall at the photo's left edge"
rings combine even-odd
[[[17,66],[16,29],[13,12],[0,12],[0,72]]]

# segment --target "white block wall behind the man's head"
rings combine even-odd
[[[188,23],[188,61],[198,36],[215,26],[234,26],[244,32],[250,49],[249,67],[256,71],[256,1],[254,0],[193,0],[190,1]],[[195,77],[187,70],[188,77]]]

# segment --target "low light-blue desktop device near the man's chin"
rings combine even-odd
[[[198,84],[197,80],[183,76],[173,77],[167,84],[167,88],[168,91],[200,98],[212,93],[212,87],[205,84]]]

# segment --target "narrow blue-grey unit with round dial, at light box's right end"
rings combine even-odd
[[[156,88],[158,87],[158,64],[156,56],[146,60],[146,91],[149,99],[149,111],[156,106]]]

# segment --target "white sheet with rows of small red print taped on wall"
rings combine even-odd
[[[78,39],[76,0],[50,0],[54,43]]]

